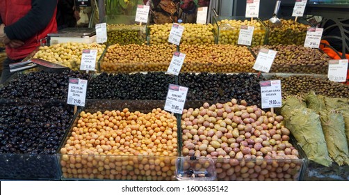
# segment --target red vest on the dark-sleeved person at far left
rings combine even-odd
[[[14,24],[19,19],[24,17],[32,8],[31,0],[1,0],[0,1],[0,16],[3,24],[6,26],[10,26]],[[1,22],[0,22],[1,23]],[[35,24],[31,24],[35,25]],[[6,27],[5,27],[6,28]],[[26,31],[26,29],[21,29],[22,31]],[[54,14],[51,17],[49,24],[47,24],[44,29],[38,31],[31,38],[26,38],[24,41],[24,45],[22,47],[11,48],[6,46],[6,54],[10,59],[23,59],[31,52],[33,52],[37,47],[40,46],[40,39],[45,38],[48,33],[57,31],[57,23],[56,23],[56,9],[54,10]],[[20,39],[19,39],[20,40]]]

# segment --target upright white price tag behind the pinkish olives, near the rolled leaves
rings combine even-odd
[[[281,81],[260,81],[262,109],[282,107]]]

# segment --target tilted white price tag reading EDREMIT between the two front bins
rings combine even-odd
[[[164,109],[173,113],[182,114],[187,93],[187,87],[170,84],[170,86],[168,86],[168,95],[166,96]]]

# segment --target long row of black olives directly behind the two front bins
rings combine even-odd
[[[227,75],[207,72],[180,73],[179,85],[189,88],[187,100],[221,100],[232,98],[261,104],[259,81],[263,77],[239,73]],[[165,100],[168,84],[175,84],[175,76],[164,72],[135,74],[102,73],[92,79],[87,98],[92,100]],[[151,93],[149,93],[151,91]]]

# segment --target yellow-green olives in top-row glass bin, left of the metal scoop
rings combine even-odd
[[[254,26],[251,42],[252,47],[266,43],[266,26],[258,20],[220,20],[214,25],[218,44],[238,45],[238,35],[241,25]]]

